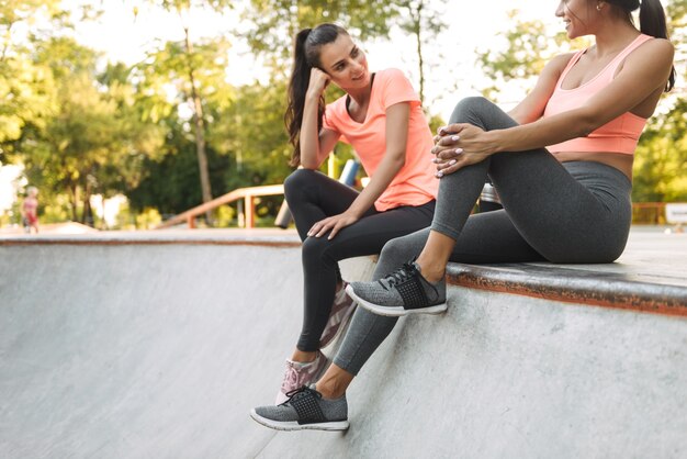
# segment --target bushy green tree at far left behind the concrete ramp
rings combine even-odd
[[[34,44],[32,63],[49,72],[53,113],[26,124],[13,143],[16,159],[43,197],[65,193],[71,219],[92,222],[90,197],[125,191],[139,180],[142,155],[154,154],[161,132],[142,123],[133,89],[111,67],[98,80],[98,55],[72,38]]]

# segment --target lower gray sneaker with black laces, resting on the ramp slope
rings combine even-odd
[[[346,394],[336,400],[326,400],[314,385],[304,385],[289,392],[289,400],[281,405],[250,410],[250,417],[277,430],[346,430],[348,403]]]

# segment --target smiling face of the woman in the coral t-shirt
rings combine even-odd
[[[345,91],[364,88],[370,83],[368,59],[346,34],[340,34],[334,43],[322,46],[319,64],[331,81]]]

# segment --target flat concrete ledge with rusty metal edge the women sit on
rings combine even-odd
[[[618,262],[608,265],[450,264],[449,283],[581,305],[687,316],[687,237],[637,228]],[[687,235],[685,235],[687,236]],[[18,235],[2,246],[262,246],[295,248],[294,229],[98,232]]]

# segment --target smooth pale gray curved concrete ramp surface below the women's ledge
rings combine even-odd
[[[458,286],[365,366],[347,433],[261,427],[300,329],[297,244],[158,235],[2,244],[0,457],[687,457],[685,317]]]

